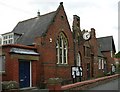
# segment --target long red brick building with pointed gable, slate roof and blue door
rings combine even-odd
[[[89,33],[90,37],[88,38]],[[88,39],[84,39],[83,35]],[[19,22],[2,35],[3,81],[17,81],[20,87],[41,87],[49,78],[72,81],[71,67],[82,67],[82,80],[110,71],[115,53],[113,38],[109,50],[97,39],[95,29],[81,30],[80,17],[73,16],[71,30],[63,3],[56,11]]]

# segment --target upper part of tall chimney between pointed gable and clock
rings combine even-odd
[[[73,15],[73,31],[80,30],[80,17]]]

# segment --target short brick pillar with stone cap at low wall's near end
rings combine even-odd
[[[49,78],[47,81],[47,88],[49,90],[61,90],[61,82],[62,79],[60,78]],[[58,91],[57,91],[58,92]]]

